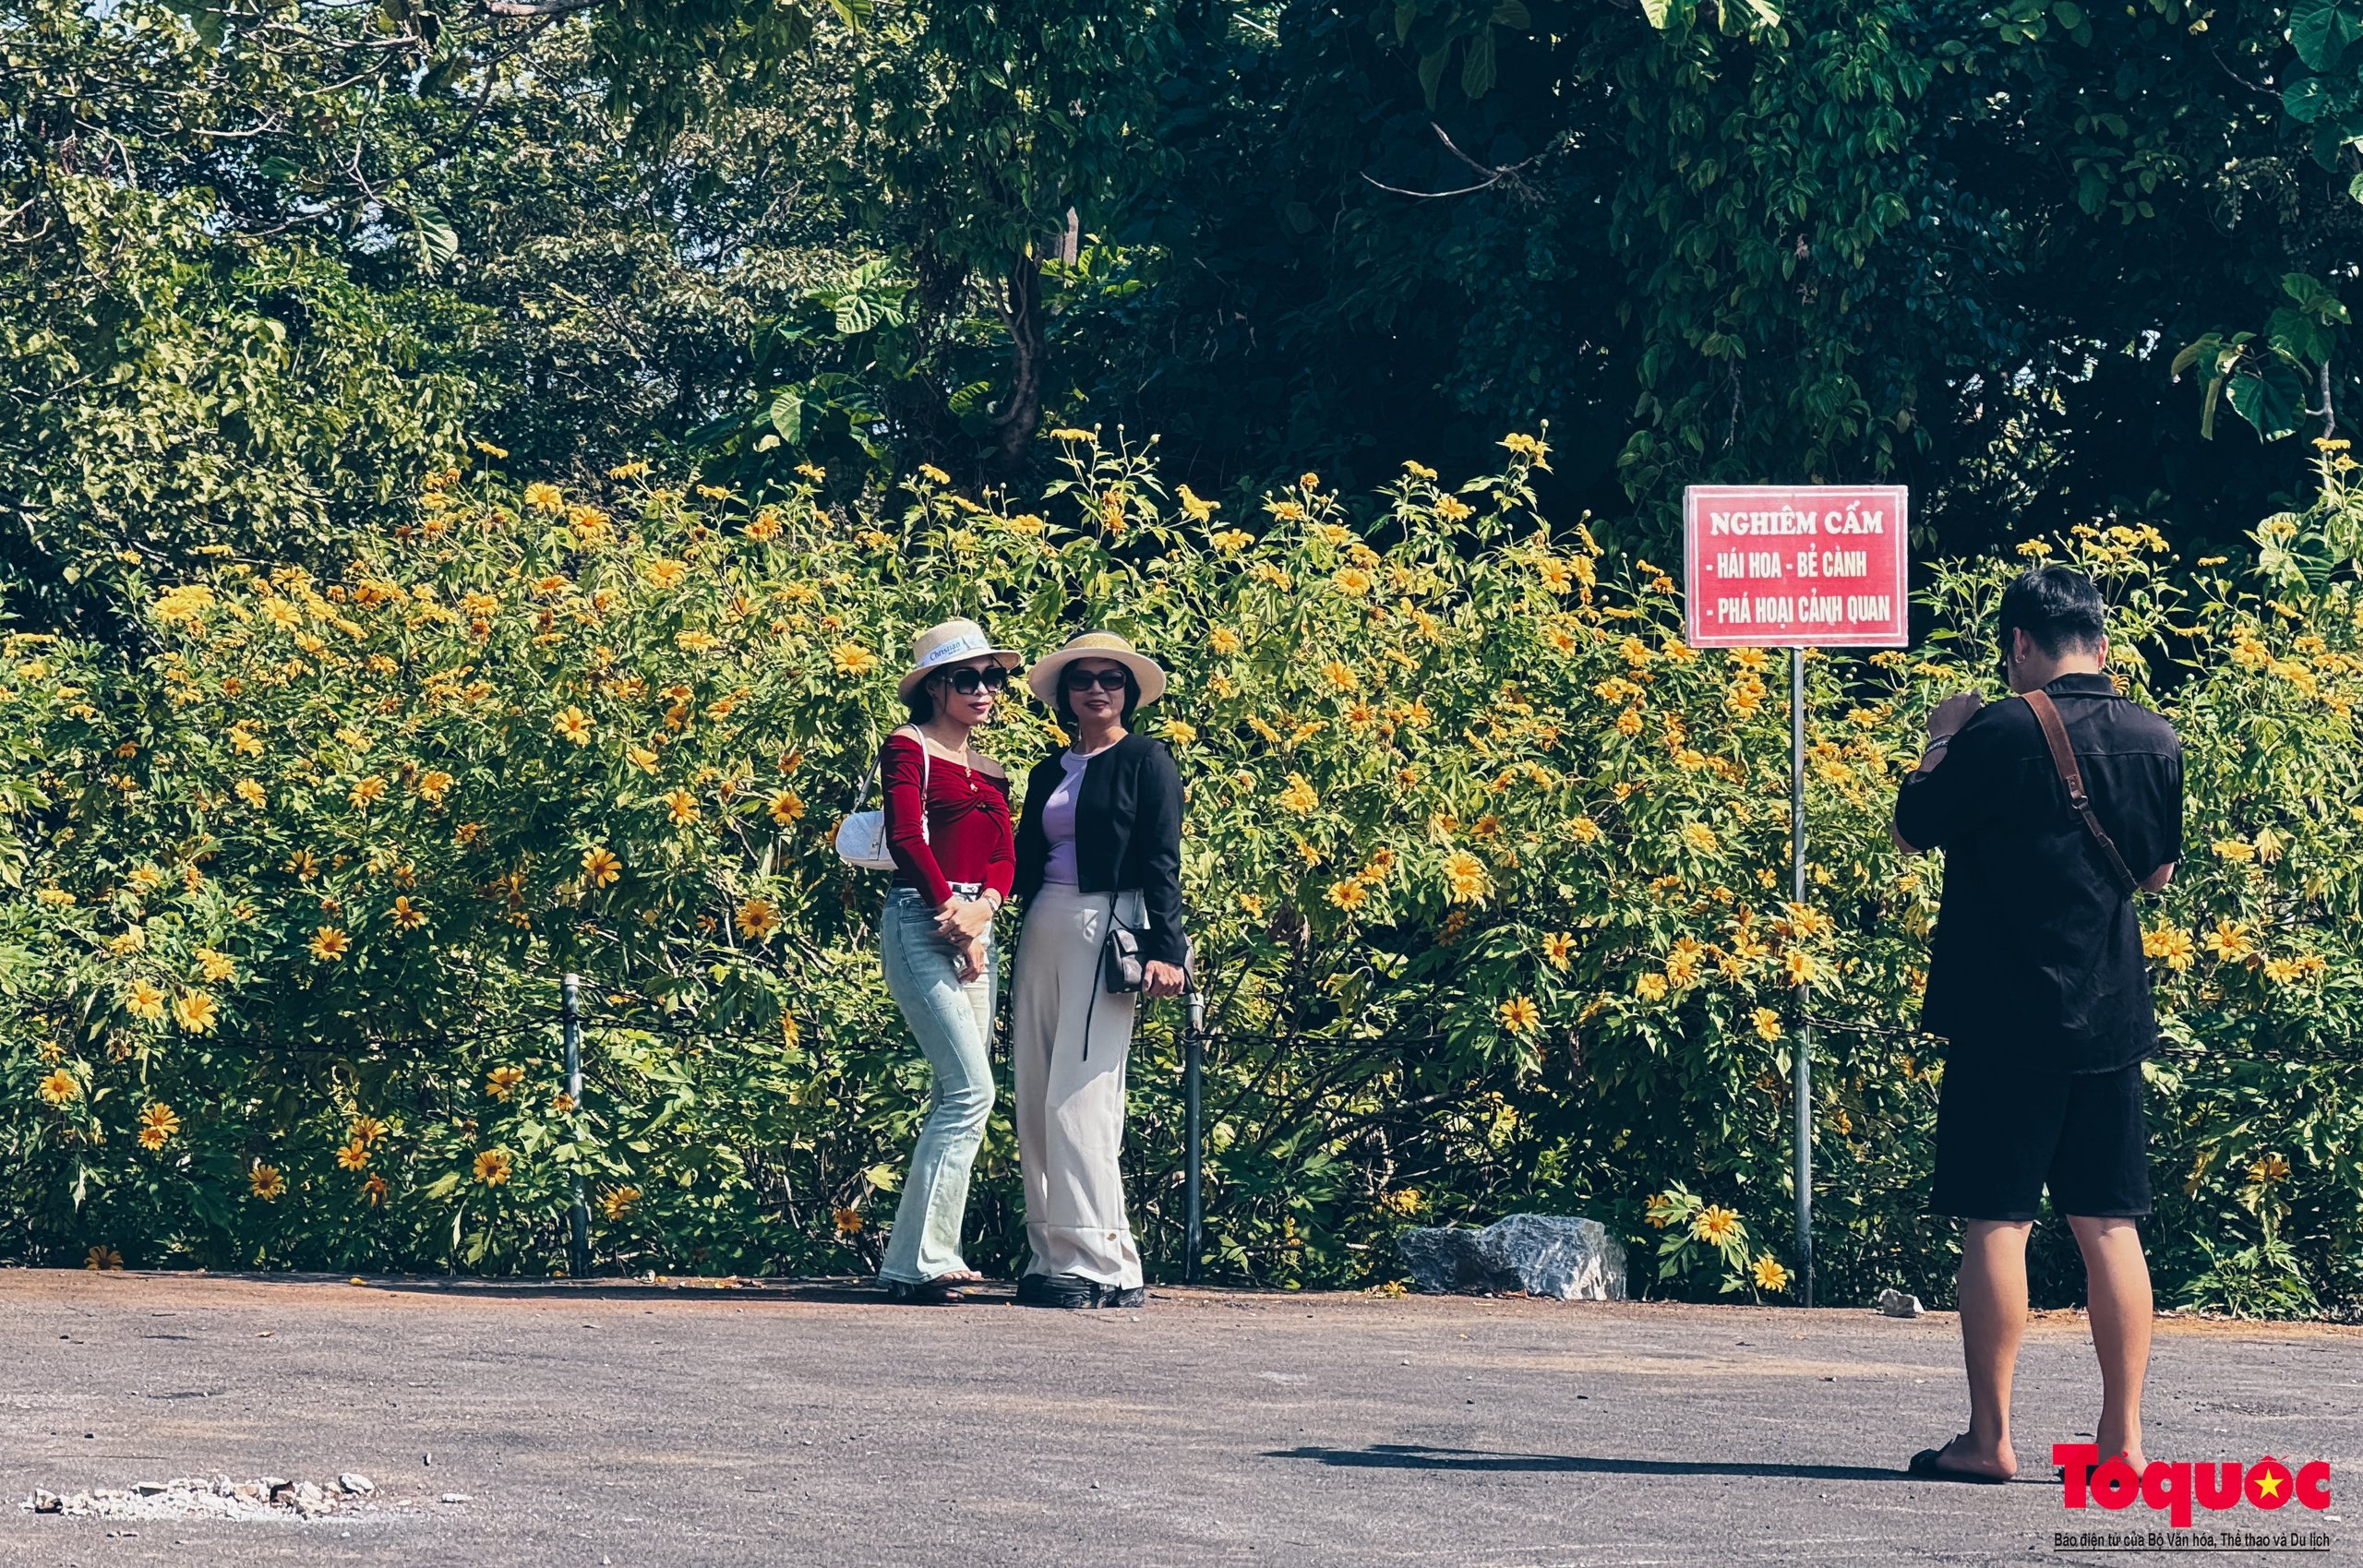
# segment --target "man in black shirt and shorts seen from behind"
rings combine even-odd
[[[1947,1039],[1931,1209],[1966,1221],[1961,1353],[1968,1431],[1912,1474],[2009,1481],[2011,1374],[2027,1322],[2027,1233],[2051,1190],[2089,1282],[2101,1355],[2101,1459],[2139,1474],[2150,1360],[2150,1211],[2141,1063],[2157,1046],[2134,890],[2181,855],[2174,727],[2105,673],[2101,593],[2035,567],[2001,595],[2016,701],[1938,704],[1895,798],[1895,845],[1945,850],[1921,1025]]]

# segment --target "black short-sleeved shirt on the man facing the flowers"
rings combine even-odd
[[[2183,852],[2183,746],[2108,675],[2044,687],[2084,793],[2136,881]],[[2091,841],[2020,699],[1980,708],[1935,772],[1895,798],[1895,831],[1945,850],[1921,1025],[1954,1051],[2039,1072],[2110,1072],[2157,1046],[2141,916]]]

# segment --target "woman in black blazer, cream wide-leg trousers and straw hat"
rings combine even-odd
[[[1075,741],[1026,782],[1009,1053],[1026,1178],[1026,1306],[1141,1306],[1141,1252],[1125,1219],[1125,1058],[1137,994],[1108,992],[1108,923],[1139,933],[1146,997],[1179,997],[1182,775],[1127,720],[1165,694],[1165,671],[1115,633],[1082,633],[1028,673]]]

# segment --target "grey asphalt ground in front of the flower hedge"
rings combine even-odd
[[[1900,1474],[1961,1424],[1945,1313],[1200,1289],[1049,1313],[825,1287],[0,1270],[0,1322],[7,1566],[2167,1556],[2056,1544],[2167,1528],[2141,1504],[2061,1502],[2049,1448],[2089,1436],[2098,1398],[2075,1313],[2027,1337],[2025,1469],[2004,1488]],[[2202,1528],[2309,1530],[2328,1547],[2304,1561],[2363,1561],[2363,1329],[2169,1320],[2150,1391],[2150,1457],[2332,1462],[2328,1511],[2240,1504]],[[33,1488],[338,1471],[378,1483],[371,1509],[14,1507]]]

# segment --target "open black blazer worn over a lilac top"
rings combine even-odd
[[[1059,789],[1063,753],[1052,751],[1026,775],[1026,810],[1018,817],[1016,897],[1042,890],[1049,838],[1042,803]],[[1075,796],[1075,883],[1085,893],[1141,890],[1148,928],[1141,956],[1182,963],[1189,933],[1182,919],[1182,770],[1165,741],[1127,734],[1082,770]]]

